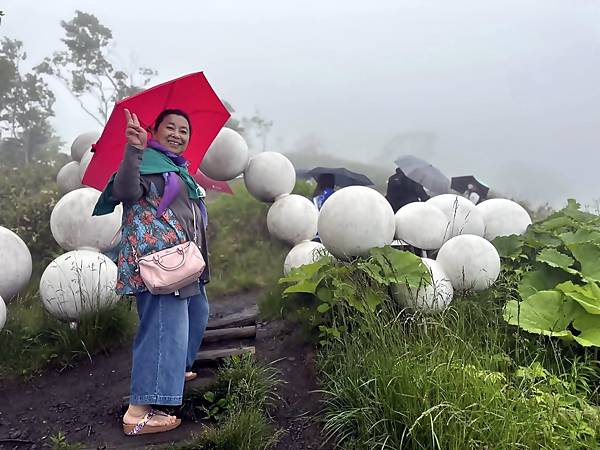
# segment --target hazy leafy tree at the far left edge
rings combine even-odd
[[[54,94],[36,73],[21,73],[23,43],[0,42],[0,165],[29,164],[55,138],[49,118]]]

